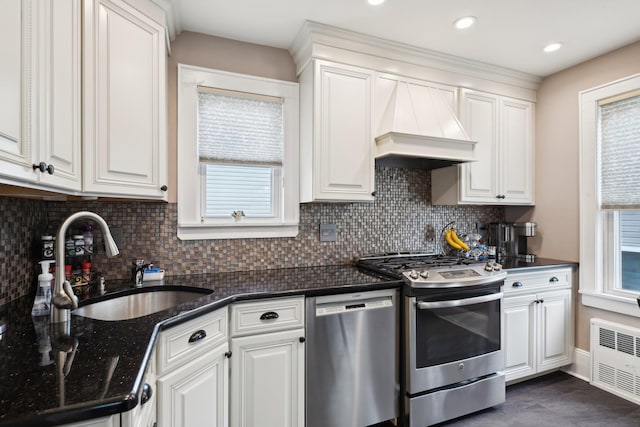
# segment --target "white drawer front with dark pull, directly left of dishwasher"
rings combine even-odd
[[[282,331],[304,326],[304,297],[266,299],[231,306],[231,335]]]

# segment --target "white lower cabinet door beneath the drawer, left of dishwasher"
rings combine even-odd
[[[304,329],[231,340],[231,425],[304,427]]]

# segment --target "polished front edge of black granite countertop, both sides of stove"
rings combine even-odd
[[[578,265],[577,262],[545,259],[545,258],[539,258],[536,260],[535,263],[530,263],[530,264],[525,264],[525,263],[518,263],[517,265],[508,265],[508,263],[505,263],[505,264],[506,265],[503,264],[504,268],[508,271],[538,270],[538,269],[556,268],[556,267],[558,268],[559,267],[576,267]],[[278,292],[240,293],[240,294],[231,295],[231,296],[222,298],[217,301],[207,303],[201,307],[198,307],[189,311],[178,313],[177,315],[172,316],[166,320],[160,321],[155,325],[153,333],[149,340],[149,345],[146,348],[145,355],[141,363],[140,369],[134,380],[131,393],[122,396],[120,399],[112,398],[111,400],[108,400],[108,401],[107,400],[96,401],[95,405],[89,405],[87,403],[84,403],[84,404],[78,405],[77,407],[71,407],[71,406],[66,407],[64,408],[63,411],[57,411],[57,412],[51,412],[51,413],[45,413],[45,412],[34,413],[33,415],[30,415],[30,416],[14,418],[10,420],[0,419],[0,425],[2,425],[3,427],[4,426],[8,426],[8,427],[58,426],[61,424],[85,421],[93,418],[107,417],[107,416],[116,415],[116,414],[120,414],[120,413],[124,413],[132,410],[139,403],[138,396],[142,388],[142,381],[148,369],[149,360],[153,356],[153,349],[155,347],[158,333],[160,331],[170,329],[174,326],[188,322],[189,320],[200,317],[206,313],[210,313],[217,309],[224,308],[234,302],[250,301],[254,299],[263,299],[263,298],[283,298],[288,296],[313,297],[313,296],[328,295],[328,294],[362,292],[366,290],[399,288],[402,285],[403,285],[403,282],[401,280],[389,279],[387,281],[372,282],[368,284],[359,284],[359,285],[339,285],[336,287],[327,287],[327,288],[307,288],[307,289],[302,288],[302,289],[293,289],[289,291],[278,291]]]

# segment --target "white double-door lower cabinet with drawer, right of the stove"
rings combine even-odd
[[[507,381],[572,363],[570,268],[509,273],[503,316]]]

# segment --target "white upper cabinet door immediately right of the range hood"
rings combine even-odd
[[[496,203],[498,196],[499,132],[498,96],[463,90],[460,121],[469,137],[477,141],[477,161],[460,170],[460,202]]]

